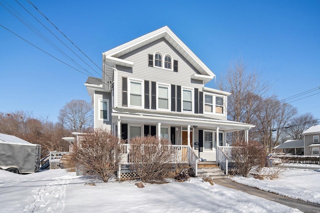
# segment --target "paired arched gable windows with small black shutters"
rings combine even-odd
[[[159,52],[156,52],[154,55],[148,55],[148,66],[168,69],[174,72],[178,71],[178,61],[173,60],[168,54],[162,57],[162,54]]]

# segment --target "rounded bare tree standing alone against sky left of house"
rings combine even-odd
[[[93,110],[84,100],[72,100],[60,109],[58,119],[64,128],[81,132],[93,126]]]

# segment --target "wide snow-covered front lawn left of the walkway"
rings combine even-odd
[[[300,176],[295,178],[301,180]],[[0,170],[0,212],[299,212],[243,192],[211,186],[199,178],[183,183],[144,184],[144,188],[137,188],[134,181],[85,185],[93,182],[63,169],[29,175]]]

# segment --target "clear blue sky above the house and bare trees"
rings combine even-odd
[[[30,1],[99,68],[102,52],[167,25],[216,74],[216,81],[230,62],[242,57],[247,69],[255,69],[269,82],[270,94],[276,94],[280,100],[320,86],[318,0]],[[81,72],[88,71],[88,75],[100,77],[99,68],[59,34],[27,0],[18,2],[93,69],[59,43],[16,1],[0,1],[2,26]],[[4,7],[21,15],[23,21],[32,24],[80,67]],[[55,122],[65,103],[72,99],[90,101],[83,85],[87,75],[48,56],[1,26],[0,56],[0,112],[24,110]],[[216,83],[213,80],[206,86],[216,88]],[[319,92],[320,89],[307,93],[290,104],[297,107],[299,113],[310,112],[320,118]]]

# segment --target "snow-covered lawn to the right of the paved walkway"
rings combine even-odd
[[[293,166],[292,164],[290,166]],[[301,164],[295,166],[301,167]],[[319,165],[313,165],[319,166]],[[307,168],[308,166],[306,166]],[[232,181],[293,199],[320,204],[320,170],[281,169],[275,180],[235,176]]]

